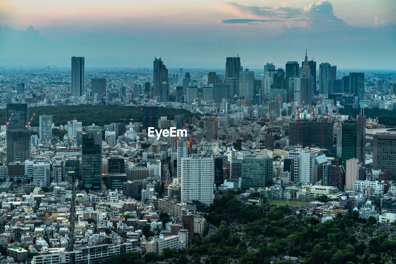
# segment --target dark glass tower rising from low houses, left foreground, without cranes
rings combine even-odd
[[[84,189],[102,189],[102,133],[82,133],[81,177]]]

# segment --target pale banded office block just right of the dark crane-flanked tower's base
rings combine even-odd
[[[49,161],[25,161],[25,173],[28,179],[33,178],[32,184],[36,187],[49,187],[51,184]]]

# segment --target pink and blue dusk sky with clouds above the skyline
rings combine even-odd
[[[0,0],[0,65],[396,69],[396,0]]]

